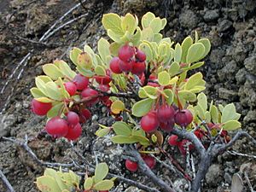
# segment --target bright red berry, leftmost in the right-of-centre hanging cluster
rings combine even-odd
[[[159,120],[157,119],[155,112],[149,112],[141,119],[141,126],[143,131],[152,132],[159,126]]]

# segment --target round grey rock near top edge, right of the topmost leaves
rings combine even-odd
[[[195,28],[198,18],[192,10],[183,10],[179,15],[180,25],[189,29]]]

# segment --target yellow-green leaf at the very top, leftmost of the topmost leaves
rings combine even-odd
[[[122,29],[122,20],[117,14],[105,14],[102,17],[102,25],[106,30],[111,30],[116,34],[124,35],[125,32]]]

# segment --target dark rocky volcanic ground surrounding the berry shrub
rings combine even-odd
[[[160,3],[159,3],[160,2]],[[241,113],[242,128],[256,137],[256,2],[254,0],[88,0],[84,6],[74,9],[71,14],[55,27],[68,20],[87,14],[80,20],[62,27],[45,41],[50,26],[59,20],[76,3],[75,0],[2,0],[0,3],[0,88],[9,82],[0,95],[0,136],[22,139],[36,137],[43,129],[45,119],[30,112],[29,89],[34,77],[42,74],[42,65],[55,58],[67,59],[68,50],[73,46],[89,44],[96,46],[96,40],[104,34],[101,26],[102,14],[127,12],[143,15],[148,11],[166,17],[166,37],[175,42],[194,34],[210,38],[212,51],[206,65],[201,68],[207,80],[207,95],[218,103],[234,102]],[[39,42],[40,41],[40,42]],[[27,55],[29,60],[18,64]],[[24,71],[23,71],[24,70]],[[22,72],[23,71],[23,72]],[[22,72],[22,73],[20,73]],[[81,154],[88,160],[107,161],[115,173],[131,176],[122,167],[119,159],[122,148],[109,142],[108,137],[95,139],[97,123],[111,125],[106,108],[94,109],[91,121],[84,125],[83,137],[77,143]],[[49,137],[33,139],[29,146],[45,161],[67,162],[76,158],[70,144],[64,141],[53,143]],[[256,154],[247,139],[241,139],[232,148],[243,154]],[[214,160],[207,173],[202,191],[229,191],[231,177],[243,172],[244,167],[252,169],[249,179],[256,189],[255,159],[224,153]],[[33,183],[42,174],[27,154],[13,143],[0,142],[0,168],[16,191],[38,191]],[[160,171],[160,166],[157,169]],[[155,172],[158,172],[155,171]],[[168,172],[165,172],[165,176]],[[241,174],[242,176],[242,174]],[[172,179],[172,177],[170,177]],[[176,180],[176,185],[182,180]],[[150,184],[150,183],[149,183]],[[117,191],[126,186],[119,185]],[[250,191],[245,182],[244,191]],[[180,191],[184,191],[181,189]],[[0,191],[6,191],[0,180]],[[125,191],[139,191],[129,188]]]

